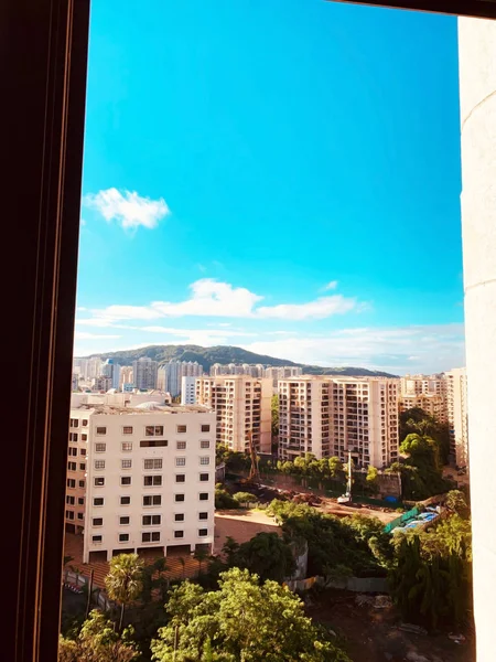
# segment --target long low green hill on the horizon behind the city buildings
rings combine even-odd
[[[133,361],[148,356],[159,363],[166,363],[172,359],[180,361],[197,361],[203,370],[208,372],[214,363],[261,363],[267,367],[280,365],[294,365],[303,369],[309,375],[343,375],[347,377],[396,377],[390,373],[367,370],[366,367],[322,367],[320,365],[306,365],[294,363],[287,359],[274,359],[263,354],[255,354],[241,348],[230,345],[218,345],[215,348],[201,348],[198,345],[149,345],[139,350],[126,350],[123,352],[107,352],[106,354],[93,354],[101,359],[114,359],[120,365],[131,365]]]

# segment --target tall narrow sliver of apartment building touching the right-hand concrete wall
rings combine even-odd
[[[468,466],[468,412],[466,369],[456,367],[446,372],[448,421],[450,447],[459,467]]]

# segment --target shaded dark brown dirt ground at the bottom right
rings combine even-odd
[[[356,595],[330,590],[306,599],[306,611],[344,641],[353,662],[475,662],[472,637],[457,644],[448,632],[418,636],[398,629],[392,608],[359,607]]]

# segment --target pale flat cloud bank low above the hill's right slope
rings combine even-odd
[[[298,363],[353,365],[396,374],[441,372],[465,361],[463,324],[343,329],[325,337],[260,340],[241,346]]]

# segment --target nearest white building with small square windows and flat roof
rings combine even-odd
[[[215,414],[205,407],[71,410],[65,523],[95,553],[214,542]]]

